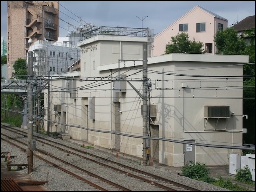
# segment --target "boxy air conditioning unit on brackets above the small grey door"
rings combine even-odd
[[[229,113],[229,106],[204,106],[204,117],[227,118]]]

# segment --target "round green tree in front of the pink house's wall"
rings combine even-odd
[[[190,53],[190,54],[204,54],[206,51],[202,48],[202,42],[189,40],[187,33],[181,32],[175,37],[171,37],[171,42],[166,45],[165,54],[169,53]]]

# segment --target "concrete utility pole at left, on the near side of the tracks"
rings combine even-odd
[[[28,174],[33,171],[33,52],[28,52]]]

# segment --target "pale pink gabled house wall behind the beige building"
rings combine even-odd
[[[196,32],[196,23],[205,23],[205,32]],[[224,29],[227,28],[227,20],[215,18],[211,13],[196,6],[165,28],[162,32],[155,35],[152,56],[159,56],[165,53],[165,46],[171,41],[171,37],[181,33],[179,32],[180,24],[188,24],[188,31],[185,32],[188,33],[190,40],[195,38],[196,42],[203,42],[203,45],[205,43],[212,43],[212,53],[210,54],[214,54],[216,50],[213,40],[218,29],[218,23],[223,24]]]

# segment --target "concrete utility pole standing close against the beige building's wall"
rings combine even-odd
[[[147,136],[147,114],[148,114],[148,107],[147,107],[147,43],[143,43],[143,109],[142,109],[142,116],[143,116],[143,136]],[[150,147],[150,140],[143,139],[143,165],[148,165],[149,163],[149,147]]]

